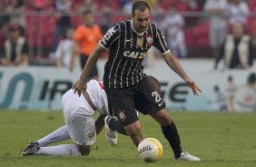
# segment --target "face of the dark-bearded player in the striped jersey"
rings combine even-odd
[[[150,17],[150,11],[147,8],[144,11],[135,10],[134,15],[132,15],[134,30],[143,33],[150,23]]]

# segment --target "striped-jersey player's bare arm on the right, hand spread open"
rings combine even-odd
[[[163,58],[166,64],[168,64],[176,74],[179,74],[184,82],[192,89],[193,95],[198,95],[199,92],[202,93],[198,85],[185,73],[178,59],[176,59],[171,53],[163,54]]]

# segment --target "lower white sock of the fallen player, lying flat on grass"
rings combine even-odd
[[[41,147],[38,152],[34,152],[34,155],[52,155],[52,156],[60,156],[60,155],[82,155],[78,147],[75,144],[62,144],[56,146],[49,147]]]

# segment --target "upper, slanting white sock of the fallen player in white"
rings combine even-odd
[[[68,133],[67,125],[60,127],[59,129],[55,130],[53,133],[50,133],[44,136],[42,139],[39,139],[38,142],[40,147],[47,146],[54,142],[60,142],[70,139],[70,135]]]

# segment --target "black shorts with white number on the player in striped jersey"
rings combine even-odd
[[[123,123],[123,126],[138,120],[135,109],[140,113],[150,114],[165,108],[160,94],[147,82],[147,77],[131,87],[105,89],[105,92],[114,115]]]

